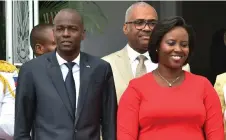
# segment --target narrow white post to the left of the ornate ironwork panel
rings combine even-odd
[[[6,61],[13,63],[13,37],[12,37],[12,19],[13,19],[13,14],[12,14],[12,0],[6,0],[6,12],[5,12],[5,18],[6,18]]]

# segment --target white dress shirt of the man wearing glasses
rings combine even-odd
[[[157,68],[158,64],[155,64],[151,61],[151,58],[150,58],[148,52],[146,52],[144,54],[140,54],[140,53],[136,52],[135,50],[133,50],[129,46],[129,44],[127,44],[126,47],[127,47],[128,56],[129,56],[129,59],[130,59],[130,64],[131,64],[131,67],[132,67],[132,72],[133,72],[134,77],[136,75],[137,65],[139,64],[139,60],[137,59],[137,57],[139,55],[144,55],[147,58],[147,60],[144,61],[144,65],[146,66],[147,72],[151,72],[151,71],[153,71]]]

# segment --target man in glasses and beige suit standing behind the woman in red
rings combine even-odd
[[[131,79],[157,68],[147,52],[150,34],[157,21],[157,12],[151,5],[145,2],[132,4],[126,11],[123,25],[127,45],[103,58],[111,64],[118,101]],[[184,69],[189,71],[189,66]]]

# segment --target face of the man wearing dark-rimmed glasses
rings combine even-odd
[[[157,13],[151,6],[137,6],[132,9],[123,31],[134,50],[139,53],[147,51],[150,34],[157,19]]]

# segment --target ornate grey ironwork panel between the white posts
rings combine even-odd
[[[13,63],[25,63],[30,58],[29,2],[13,1]]]

